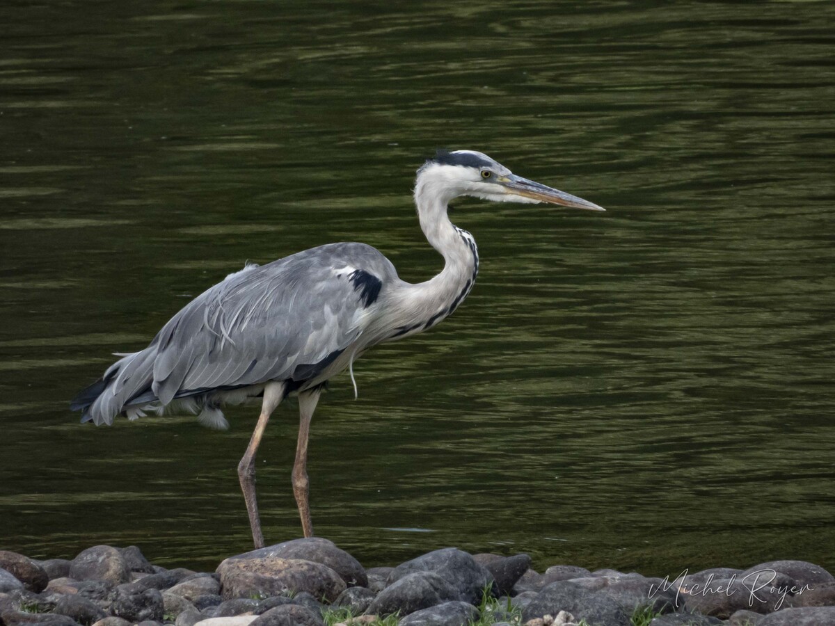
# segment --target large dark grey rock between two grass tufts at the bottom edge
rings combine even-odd
[[[522,618],[527,621],[560,611],[568,611],[596,626],[630,626],[631,623],[630,614],[605,593],[586,590],[567,580],[551,583],[540,591],[523,609]]]

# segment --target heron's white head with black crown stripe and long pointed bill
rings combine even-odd
[[[588,200],[517,176],[487,154],[474,150],[438,150],[418,170],[418,180],[421,174],[431,175],[435,184],[443,185],[448,199],[472,195],[494,202],[546,202],[574,209],[605,210]]]

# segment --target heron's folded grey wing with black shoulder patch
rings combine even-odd
[[[227,276],[149,346],[154,395],[167,404],[190,392],[311,380],[362,334],[393,272],[370,246],[334,244]]]

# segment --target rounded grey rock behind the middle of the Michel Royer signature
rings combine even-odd
[[[691,610],[721,619],[730,618],[740,609],[755,613],[771,613],[787,606],[785,594],[779,593],[777,588],[752,587],[756,581],[755,576],[705,582],[703,588],[695,585],[686,588],[686,592],[681,592],[680,598],[684,598]],[[757,584],[762,585],[763,581]]]

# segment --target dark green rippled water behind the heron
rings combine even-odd
[[[835,4],[64,2],[0,7],[0,547],[247,549],[257,408],[78,424],[68,401],[240,269],[362,240],[441,260],[437,147],[605,214],[462,200],[468,300],[332,381],[316,532],[367,567],[433,548],[544,568],[835,569]],[[258,487],[300,533],[297,411]]]

